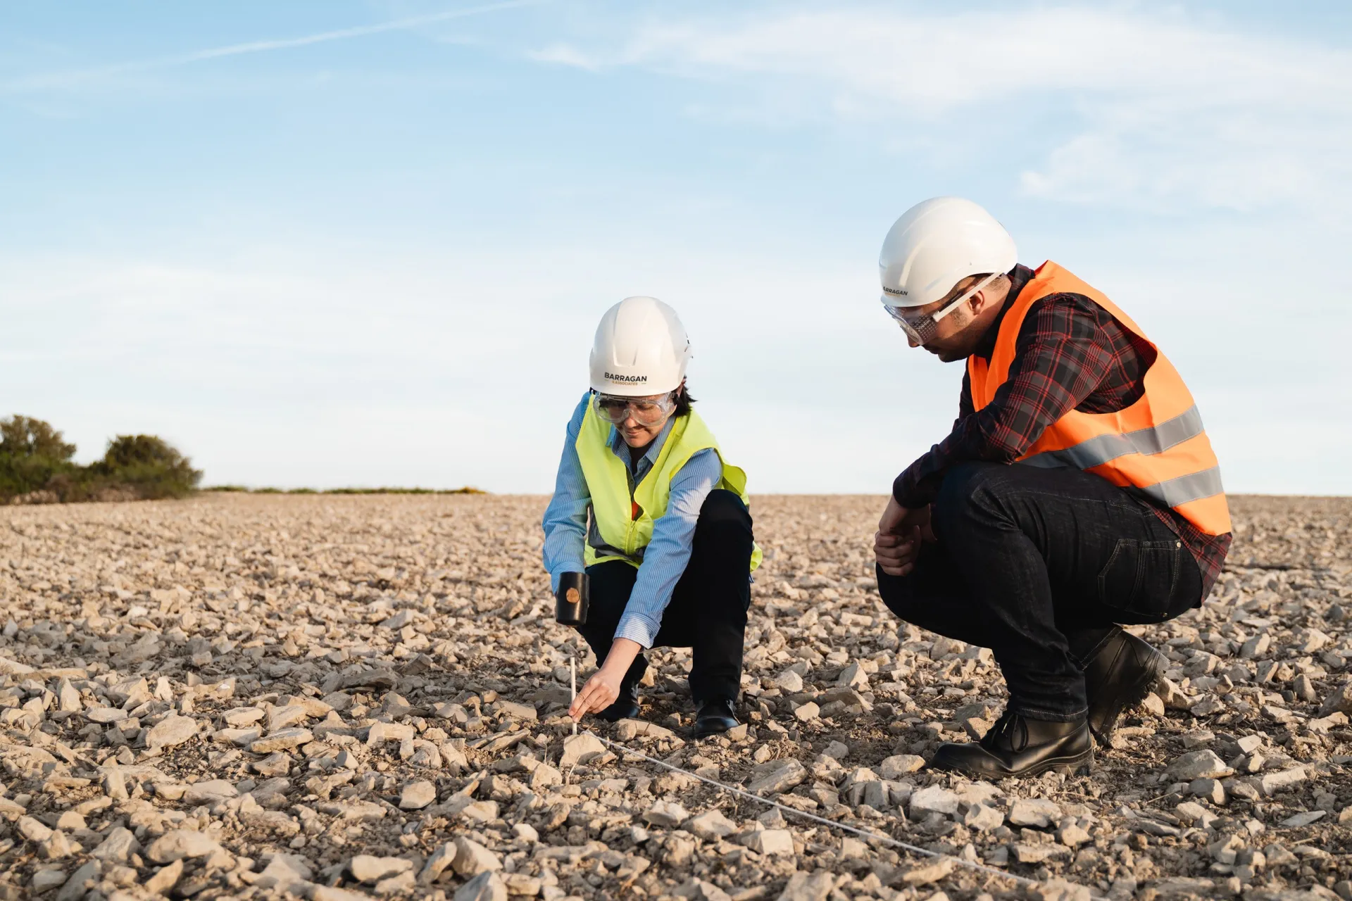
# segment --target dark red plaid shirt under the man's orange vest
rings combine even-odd
[[[991,358],[1005,311],[1033,277],[1028,266],[1010,273],[1009,300],[982,338],[976,354]],[[1155,350],[1118,324],[1084,294],[1048,294],[1036,301],[1019,326],[1017,353],[1010,363],[1005,403],[972,411],[972,386],[964,373],[963,398],[953,431],[911,463],[892,482],[892,496],[902,507],[923,507],[934,500],[948,467],[964,459],[1011,463],[1036,442],[1048,426],[1071,409],[1111,413],[1145,393],[1145,370]],[[1172,509],[1144,500],[1202,570],[1202,597],[1211,592],[1230,550],[1230,535],[1207,535]]]

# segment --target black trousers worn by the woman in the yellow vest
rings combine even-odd
[[[752,602],[752,516],[734,492],[708,493],[699,509],[685,573],[676,582],[654,647],[691,647],[690,692],[696,702],[735,701],[742,684],[742,642]],[[629,605],[638,570],[623,561],[587,567],[591,604],[577,627],[600,663],[610,654],[615,627]],[[639,654],[625,674],[634,686],[648,670]]]

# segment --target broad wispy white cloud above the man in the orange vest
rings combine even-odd
[[[972,135],[1028,104],[1046,128],[1030,196],[1151,211],[1352,203],[1352,53],[1096,7],[911,14],[831,8],[646,20],[541,62],[744,82],[760,105],[880,123],[907,139]],[[775,103],[776,108],[779,107]],[[955,130],[956,131],[952,131]],[[987,132],[990,134],[990,132]],[[961,138],[957,138],[961,140]]]

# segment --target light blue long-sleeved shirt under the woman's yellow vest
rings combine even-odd
[[[552,590],[558,590],[558,577],[562,573],[581,573],[585,567],[585,544],[604,552],[606,546],[595,523],[588,534],[588,512],[591,511],[591,490],[577,459],[577,432],[583,416],[591,403],[591,392],[583,394],[573,417],[568,421],[568,436],[564,439],[564,453],[558,461],[558,475],[554,480],[554,496],[545,509],[545,548],[542,552],[545,569],[549,570]],[[653,439],[648,451],[633,463],[629,444],[618,430],[610,430],[610,448],[629,470],[629,489],[634,486],[657,462],[657,455],[667,443],[675,417],[668,419],[662,431]],[[657,629],[662,624],[662,613],[671,604],[672,592],[690,563],[691,544],[695,539],[695,524],[704,498],[723,477],[723,462],[713,448],[696,451],[672,477],[671,497],[667,512],[653,521],[653,538],[646,548],[639,551],[642,563],[629,605],[615,627],[615,638],[627,638],[644,647],[652,647]]]

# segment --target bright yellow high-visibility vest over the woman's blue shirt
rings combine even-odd
[[[598,552],[588,540],[587,566],[606,561],[625,561],[630,566],[642,563],[642,551],[653,539],[653,523],[667,512],[672,478],[702,450],[711,448],[723,465],[723,474],[714,488],[735,492],[749,505],[746,473],[723,461],[718,442],[695,411],[672,423],[653,467],[634,486],[633,494],[629,493],[629,469],[611,447],[612,435],[614,427],[588,404],[573,444],[591,493],[588,535],[598,532],[600,544],[615,552]],[[753,547],[752,570],[760,566],[760,561],[761,550]]]

